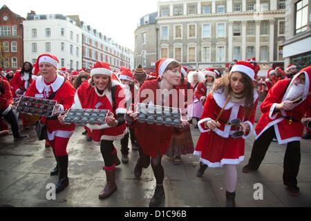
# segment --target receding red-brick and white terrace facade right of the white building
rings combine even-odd
[[[133,52],[129,48],[116,44],[113,39],[106,37],[83,21],[82,32],[83,66],[85,68],[91,68],[96,61],[108,62],[113,70],[119,70],[120,66],[133,68],[131,64]]]

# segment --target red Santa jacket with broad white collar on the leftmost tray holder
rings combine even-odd
[[[57,101],[60,105],[61,111],[70,108],[73,105],[73,98],[75,96],[75,88],[70,84],[69,81],[64,81],[64,77],[57,75],[55,81],[50,84],[46,84],[42,76],[37,77],[35,81],[32,82],[28,90],[26,91],[26,96],[37,97],[48,99],[48,96],[55,92],[55,97],[53,100]],[[41,122],[45,122],[46,117],[41,117]],[[57,132],[61,137],[70,137],[72,131],[75,130],[75,125],[62,125],[59,124],[57,119],[48,119],[46,125],[49,133],[55,131],[65,131]],[[70,133],[66,132],[70,131]]]

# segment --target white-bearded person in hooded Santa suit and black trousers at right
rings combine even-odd
[[[267,148],[276,137],[279,144],[287,144],[284,156],[283,183],[291,195],[299,195],[297,175],[301,160],[300,140],[303,122],[310,121],[305,113],[311,108],[311,66],[303,68],[291,79],[278,81],[261,104],[261,118],[255,128],[256,140],[244,173],[258,170]]]

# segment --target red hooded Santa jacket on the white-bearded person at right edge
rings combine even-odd
[[[308,70],[304,71],[304,70]],[[303,100],[294,105],[291,111],[274,111],[276,104],[285,101],[285,96],[290,90],[290,86],[294,83],[296,77],[301,73],[305,73],[305,90]],[[274,126],[276,138],[279,144],[286,144],[292,141],[301,140],[303,134],[303,124],[301,118],[311,106],[310,93],[310,76],[311,66],[304,68],[300,73],[291,79],[282,79],[278,81],[269,91],[267,97],[261,104],[261,118],[255,128],[256,139],[260,137],[268,128]],[[290,119],[292,122],[290,122]]]

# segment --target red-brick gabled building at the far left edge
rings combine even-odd
[[[0,9],[0,67],[17,70],[23,65],[23,21],[7,6]]]

